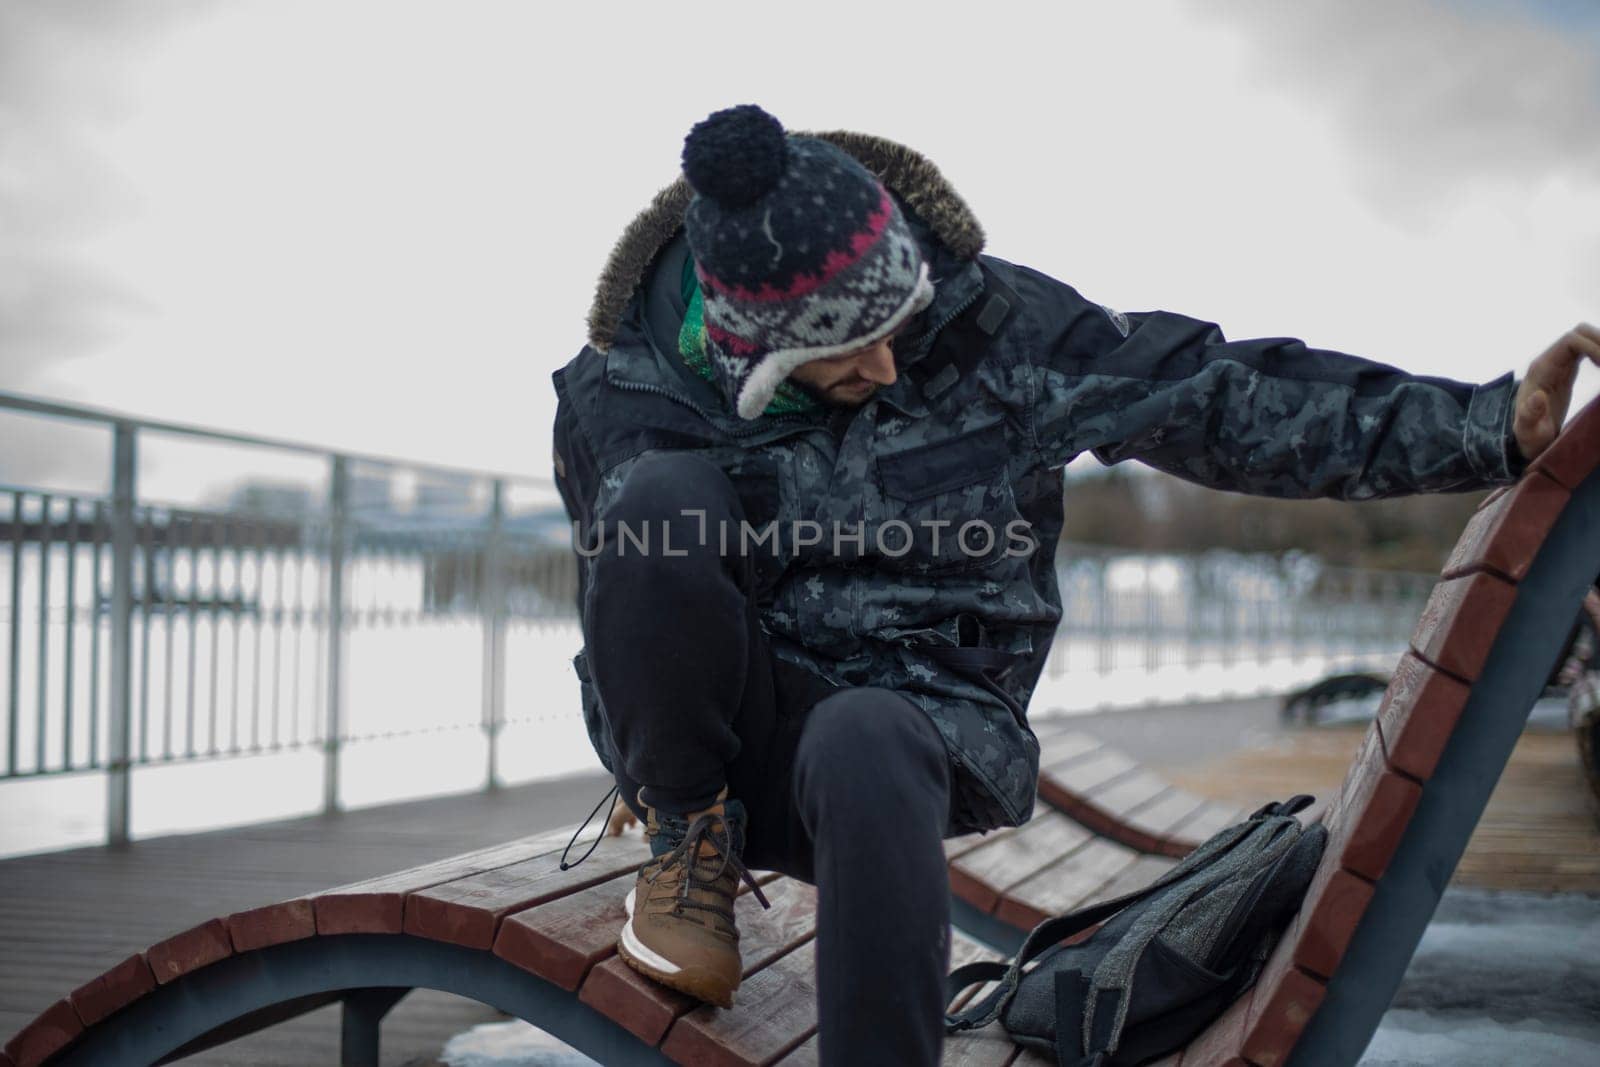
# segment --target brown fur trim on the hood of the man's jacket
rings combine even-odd
[[[931,230],[933,237],[960,259],[976,259],[984,248],[984,230],[966,202],[950,187],[939,168],[925,155],[904,144],[869,133],[829,130],[811,133],[790,131],[802,138],[829,141],[850,152],[862,166],[872,171],[883,186],[899,197]],[[683,213],[688,211],[694,190],[680,174],[662,189],[650,206],[634,216],[622,230],[605,270],[595,286],[594,304],[589,307],[589,344],[597,352],[606,352],[622,322],[622,312],[645,280],[645,272],[667,242],[683,229]]]

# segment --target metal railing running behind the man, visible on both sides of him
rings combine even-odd
[[[0,485],[0,781],[104,773],[107,838],[123,843],[138,766],[320,750],[331,811],[352,742],[477,729],[493,789],[506,726],[549,721],[507,715],[506,677],[510,630],[554,627],[573,651],[579,640],[576,561],[550,483],[13,394],[0,394],[3,410],[107,429],[112,470],[104,494]],[[139,443],[150,435],[309,454],[325,485],[296,507],[144,499]],[[446,512],[374,504],[371,488],[400,474],[482,493],[458,493]],[[533,506],[514,509],[514,493]],[[1046,680],[1395,654],[1432,585],[1307,558],[1064,545],[1058,560],[1066,614]],[[352,675],[363,699],[352,701]],[[464,710],[474,683],[480,704]],[[578,717],[576,701],[562,715]]]

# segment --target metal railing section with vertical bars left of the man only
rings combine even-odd
[[[331,811],[346,744],[482,729],[486,781],[499,782],[507,630],[571,617],[576,601],[571,549],[552,537],[552,526],[565,534],[565,517],[546,506],[522,517],[531,525],[518,522],[507,498],[530,490],[554,501],[554,486],[14,394],[0,394],[0,410],[112,434],[109,494],[0,485],[0,574],[8,577],[0,781],[106,773],[112,843],[128,840],[130,771],[142,765],[320,749]],[[138,448],[150,434],[317,456],[326,493],[290,510],[141,499]],[[486,506],[453,514],[357,506],[352,467],[368,486],[397,472],[477,486]],[[462,715],[456,699],[421,715],[392,707],[392,715],[352,717],[352,635],[462,627],[482,630],[480,709]],[[386,672],[427,670],[416,657],[381,659]],[[467,675],[448,688],[470,691],[472,683]]]

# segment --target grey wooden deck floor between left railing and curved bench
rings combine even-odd
[[[334,817],[82,848],[0,862],[0,1041],[107,966],[216,915],[358,881],[541,830],[576,825],[610,789],[592,774]],[[597,829],[590,824],[590,832]],[[418,990],[384,1024],[384,1064],[432,1064],[450,1035],[499,1016]],[[333,1062],[323,1008],[192,1064]]]

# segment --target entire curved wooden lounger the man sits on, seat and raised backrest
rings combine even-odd
[[[1331,798],[1306,904],[1258,984],[1166,1067],[1358,1059],[1600,574],[1597,466],[1600,403],[1485,501]],[[606,838],[568,872],[563,843],[528,838],[211,920],[46,1008],[0,1067],[157,1062],[334,1001],[344,1062],[374,1064],[378,1024],[411,987],[493,1005],[606,1064],[816,1062],[810,886],[766,877],[770,912],[741,897],[747,974],[739,1006],[718,1011],[614,957],[643,841]],[[1170,862],[1053,811],[949,841],[947,856],[957,921],[997,944]],[[957,961],[984,950],[954,944]],[[990,1029],[949,1041],[946,1062],[1048,1061]]]

